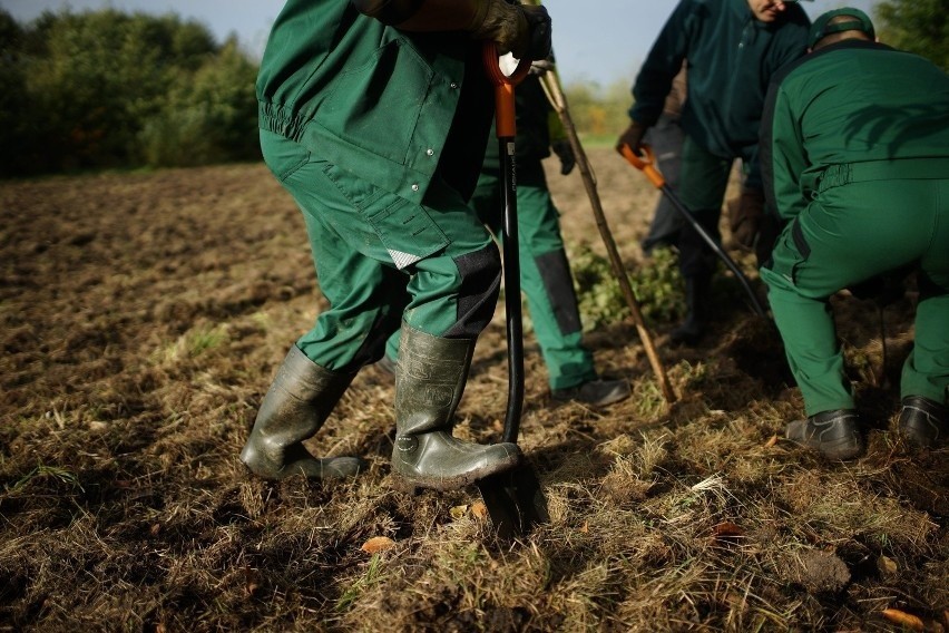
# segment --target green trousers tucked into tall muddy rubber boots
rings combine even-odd
[[[497,245],[461,194],[436,181],[421,205],[262,130],[267,167],[294,197],[330,306],[297,340],[315,363],[354,372],[382,357],[404,320],[433,337],[476,339],[500,291]]]

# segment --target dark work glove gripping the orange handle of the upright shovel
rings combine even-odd
[[[481,0],[469,30],[476,39],[495,40],[501,55],[511,52],[518,59],[547,59],[550,55],[550,14],[546,7]]]

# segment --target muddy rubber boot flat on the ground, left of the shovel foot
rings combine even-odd
[[[320,367],[293,345],[261,403],[241,461],[265,479],[337,479],[359,473],[361,459],[313,457],[302,444],[320,430],[353,377]]]

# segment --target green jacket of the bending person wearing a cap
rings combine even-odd
[[[922,57],[844,40],[774,78],[761,134],[765,196],[785,220],[858,169],[947,178],[949,76]]]

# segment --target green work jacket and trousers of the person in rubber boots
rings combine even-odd
[[[257,78],[261,145],[303,212],[330,303],[297,347],[351,373],[400,320],[477,338],[500,288],[498,249],[467,205],[492,111],[480,43],[304,0],[274,33]]]

